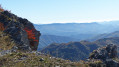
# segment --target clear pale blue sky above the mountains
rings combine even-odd
[[[119,20],[119,0],[0,0],[0,4],[35,24]]]

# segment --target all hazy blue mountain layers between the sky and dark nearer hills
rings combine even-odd
[[[102,38],[119,36],[119,21],[102,23],[34,24],[34,26],[42,34],[38,50],[41,50],[51,43],[67,43],[80,40],[95,41]]]

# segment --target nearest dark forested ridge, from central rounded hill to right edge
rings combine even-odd
[[[79,61],[81,59],[86,59],[93,50],[107,44],[119,46],[119,37],[104,38],[94,42],[80,41],[61,44],[54,43],[42,49],[41,52],[71,61]]]

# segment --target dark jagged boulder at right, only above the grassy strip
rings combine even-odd
[[[90,59],[101,59],[106,60],[110,58],[117,58],[117,46],[113,44],[106,45],[105,47],[98,48],[94,50],[91,55]]]

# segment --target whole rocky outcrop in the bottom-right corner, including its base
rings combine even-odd
[[[99,61],[101,61],[101,63]],[[89,57],[89,62],[91,67],[119,67],[117,46],[109,44],[94,50]]]

